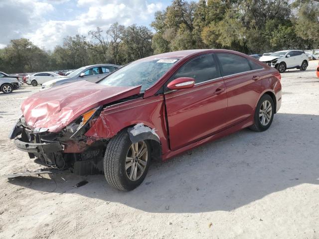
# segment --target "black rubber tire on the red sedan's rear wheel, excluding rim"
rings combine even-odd
[[[261,122],[262,121],[262,117],[260,117],[260,111],[262,110],[262,104],[264,102],[266,102],[266,101],[268,101],[271,104],[271,117],[270,117],[269,122],[266,125],[264,125]],[[263,95],[260,98],[260,100],[259,100],[259,102],[257,104],[256,110],[255,110],[254,124],[251,125],[249,128],[251,130],[259,131],[259,132],[267,130],[270,127],[271,123],[273,122],[274,113],[275,113],[275,104],[274,104],[273,99],[271,98],[270,95],[267,95],[267,94]],[[264,116],[264,117],[266,117],[266,116]]]

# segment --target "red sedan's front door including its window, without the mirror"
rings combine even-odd
[[[171,91],[167,84],[179,77],[195,79],[190,89]],[[225,127],[227,96],[213,54],[195,57],[166,82],[164,98],[170,149],[176,150]]]

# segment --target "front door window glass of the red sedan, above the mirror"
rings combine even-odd
[[[219,77],[216,63],[211,54],[199,56],[180,67],[167,83],[179,77],[191,77],[195,83],[208,81]]]

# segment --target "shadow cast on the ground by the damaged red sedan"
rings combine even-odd
[[[232,211],[300,184],[319,184],[319,116],[276,114],[265,132],[238,131],[164,163],[153,163],[131,192],[111,188],[103,175],[20,177],[31,190],[79,194],[152,213]],[[88,184],[75,188],[78,182]]]

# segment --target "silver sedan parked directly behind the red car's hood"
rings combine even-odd
[[[120,68],[121,66],[113,64],[99,64],[91,66],[83,66],[73,72],[71,72],[67,78],[54,79],[42,84],[42,89],[48,89],[55,86],[60,86],[63,84],[68,84],[76,81],[89,81],[96,83],[110,72],[113,72]]]

